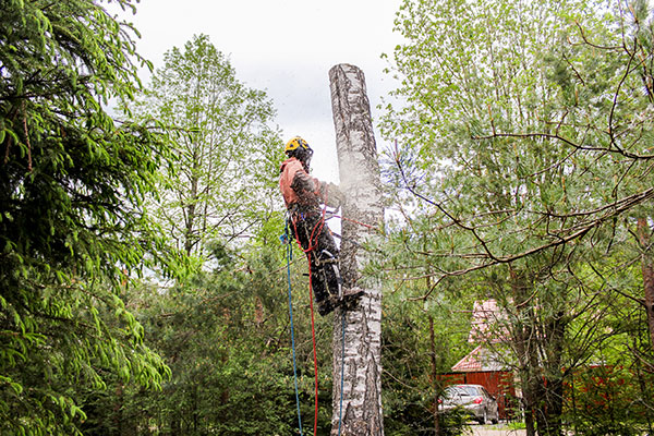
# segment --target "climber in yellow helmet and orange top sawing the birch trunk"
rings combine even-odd
[[[288,157],[281,164],[279,189],[283,195],[291,233],[306,253],[318,313],[327,315],[338,305],[353,301],[363,291],[342,289],[339,250],[325,222],[322,204],[340,207],[342,193],[334,183],[320,182],[308,174],[313,149],[300,136],[284,147]]]

